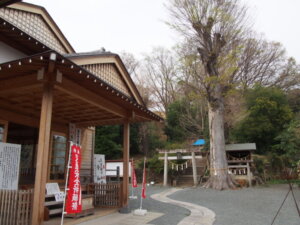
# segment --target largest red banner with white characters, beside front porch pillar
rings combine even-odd
[[[68,195],[66,201],[67,214],[80,213],[81,187],[80,187],[80,165],[81,165],[80,146],[71,146],[71,168],[69,172]]]

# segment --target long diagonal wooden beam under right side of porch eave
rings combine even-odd
[[[62,84],[56,84],[55,88],[117,116],[123,118],[129,117],[129,113],[126,109],[112,103],[102,96],[94,94],[66,77],[63,77]]]

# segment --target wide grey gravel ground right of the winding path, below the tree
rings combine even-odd
[[[198,204],[213,210],[216,213],[214,225],[271,225],[287,191],[287,185],[227,191],[215,191],[199,187],[186,188],[169,197],[175,200]],[[300,189],[295,187],[294,193],[300,206]],[[170,209],[170,211],[172,210]],[[173,213],[168,215],[173,216],[176,214],[177,212],[173,211]],[[157,222],[157,225],[164,224],[161,223],[160,219],[157,219]],[[166,224],[175,225],[176,223]],[[300,218],[291,193],[274,225],[300,225]]]

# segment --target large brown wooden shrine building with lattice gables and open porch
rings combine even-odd
[[[70,124],[81,129],[83,184],[92,182],[94,127],[123,126],[123,184],[99,193],[126,206],[130,123],[152,120],[162,119],[145,107],[118,55],[76,53],[43,7],[0,8],[0,141],[22,146],[19,191],[0,190],[0,224],[18,224],[20,216],[43,223],[46,183],[65,183]],[[12,211],[28,189],[30,207]]]

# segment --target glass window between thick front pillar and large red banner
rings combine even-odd
[[[67,138],[61,134],[52,135],[52,151],[50,158],[50,180],[65,179]]]

